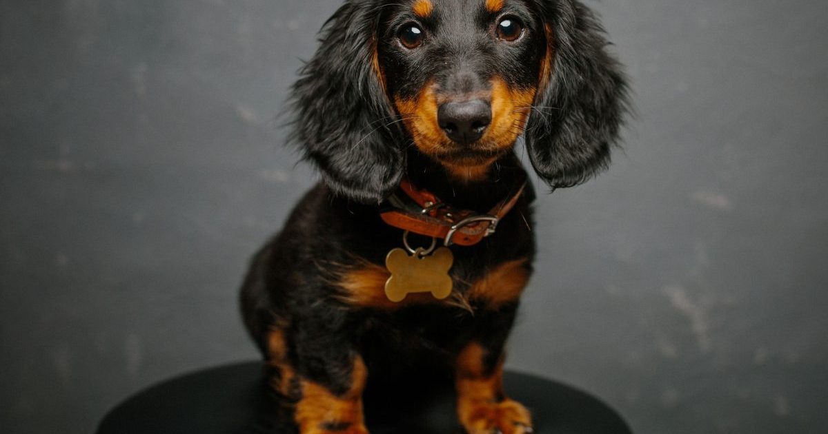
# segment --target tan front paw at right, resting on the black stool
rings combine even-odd
[[[469,434],[530,434],[532,416],[521,403],[466,403],[459,408],[460,422]]]

